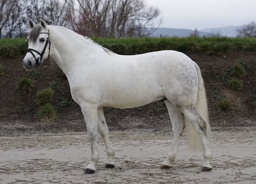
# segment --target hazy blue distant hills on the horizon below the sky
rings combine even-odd
[[[219,33],[220,36],[236,37],[236,29],[238,26],[227,26],[222,28],[207,28],[198,30],[199,36],[211,36]],[[192,34],[192,29],[176,29],[176,28],[156,28],[151,37],[188,37]]]

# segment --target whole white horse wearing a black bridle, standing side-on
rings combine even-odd
[[[165,100],[174,133],[171,151],[161,168],[170,168],[186,125],[188,132],[200,137],[202,171],[212,170],[204,83],[200,68],[188,56],[177,51],[118,55],[70,29],[47,25],[43,20],[39,25],[29,20],[29,27],[24,68],[32,70],[51,55],[67,76],[72,98],[81,106],[91,144],[86,174],[96,170],[98,132],[108,156],[105,167],[114,167],[103,107],[135,108],[159,100]]]

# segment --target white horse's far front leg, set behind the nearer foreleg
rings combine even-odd
[[[114,150],[109,140],[108,126],[106,125],[103,108],[98,109],[98,131],[100,132],[101,137],[104,140],[105,147],[106,147],[106,154],[108,156],[108,162],[106,162],[105,167],[113,168],[114,167]]]

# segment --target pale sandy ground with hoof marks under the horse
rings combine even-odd
[[[173,167],[161,170],[171,137],[146,130],[110,132],[116,167],[104,168],[99,138],[97,172],[85,175],[90,159],[86,133],[2,136],[0,183],[256,183],[256,127],[213,130],[213,170],[207,173],[200,171],[201,152],[188,151],[185,141]]]

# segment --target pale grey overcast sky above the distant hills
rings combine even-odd
[[[204,29],[256,22],[256,0],[145,0],[161,11],[162,28]]]

